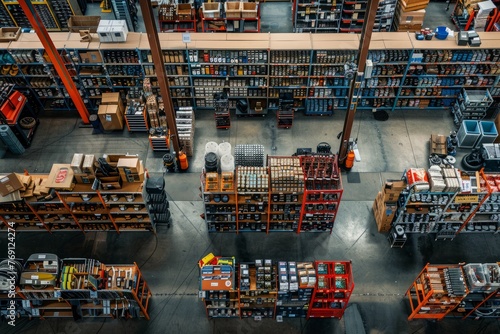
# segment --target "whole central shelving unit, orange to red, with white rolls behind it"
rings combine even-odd
[[[260,181],[250,181],[260,180]],[[209,232],[329,232],[342,197],[336,155],[267,158],[201,175]]]

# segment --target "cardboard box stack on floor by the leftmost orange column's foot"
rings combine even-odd
[[[97,115],[106,131],[123,130],[125,106],[120,93],[103,93]]]

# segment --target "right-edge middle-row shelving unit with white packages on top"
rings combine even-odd
[[[467,233],[500,233],[499,190],[493,186],[500,176],[447,170],[453,175],[445,179],[457,180],[456,186],[433,191],[417,190],[417,185],[400,193],[393,228],[408,234],[432,233],[436,239],[454,239]]]

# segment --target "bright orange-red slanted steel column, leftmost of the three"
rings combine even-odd
[[[76,109],[78,110],[78,113],[80,114],[83,123],[89,124],[90,123],[89,112],[87,110],[87,107],[85,106],[85,103],[83,102],[83,99],[80,96],[80,93],[78,92],[78,88],[76,88],[76,85],[73,82],[73,78],[69,74],[61,56],[57,52],[54,43],[50,39],[47,29],[45,29],[42,20],[40,20],[40,17],[36,13],[33,4],[31,4],[30,1],[26,0],[18,0],[18,2],[21,8],[23,9],[24,13],[26,14],[26,17],[33,26],[33,29],[35,30],[36,34],[38,35],[40,42],[42,42],[45,51],[47,51],[50,61],[52,61],[52,64],[54,64],[54,68],[56,69],[57,74],[61,78],[64,87],[66,87],[69,96],[73,100],[73,103],[75,104]]]

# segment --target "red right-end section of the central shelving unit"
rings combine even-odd
[[[299,230],[332,233],[343,192],[338,157],[302,156],[301,164],[305,190]]]

